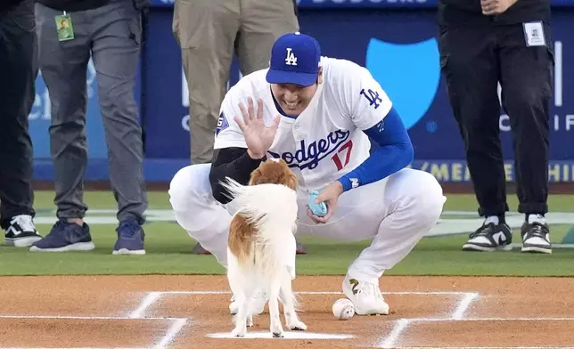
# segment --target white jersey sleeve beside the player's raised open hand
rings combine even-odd
[[[217,128],[215,133],[214,149],[222,148],[247,148],[242,129],[237,125],[234,118],[242,118],[242,111],[239,109],[239,98],[234,96],[235,90],[229,90],[221,103]]]

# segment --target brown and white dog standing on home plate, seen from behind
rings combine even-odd
[[[234,337],[244,337],[253,326],[252,295],[263,289],[269,296],[270,331],[283,337],[279,303],[286,326],[306,330],[295,312],[291,288],[295,278],[297,177],[283,159],[268,159],[251,173],[249,185],[226,178],[224,187],[238,205],[229,231],[227,280],[234,293]]]

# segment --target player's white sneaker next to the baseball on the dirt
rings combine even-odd
[[[357,315],[389,314],[389,304],[385,303],[377,284],[347,275],[343,280],[343,293],[355,305]]]

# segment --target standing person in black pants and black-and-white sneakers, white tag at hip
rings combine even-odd
[[[549,101],[553,41],[549,0],[440,0],[440,66],[463,136],[482,226],[464,250],[512,242],[499,139],[502,108],[510,118],[522,252],[551,253],[548,211]]]

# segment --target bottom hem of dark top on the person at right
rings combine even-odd
[[[506,12],[482,14],[480,0],[439,0],[439,25],[460,26],[482,23],[517,24],[542,20],[550,23],[550,0],[518,0]]]

